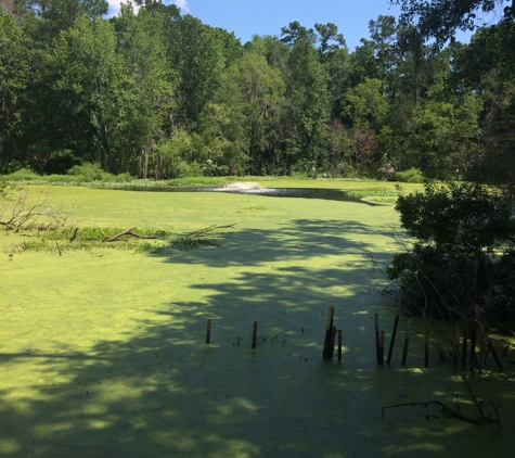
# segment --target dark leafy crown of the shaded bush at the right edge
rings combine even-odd
[[[480,185],[426,185],[401,195],[401,226],[414,238],[388,277],[412,313],[501,311],[515,300],[515,215],[507,191]]]

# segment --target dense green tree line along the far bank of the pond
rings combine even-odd
[[[511,13],[468,44],[379,16],[349,51],[331,23],[242,44],[155,0],[0,4],[0,173],[515,179]]]

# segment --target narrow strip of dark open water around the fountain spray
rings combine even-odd
[[[270,198],[298,198],[298,199],[321,199],[324,201],[355,202],[359,204],[379,206],[375,202],[366,202],[361,198],[347,195],[339,189],[323,188],[146,188],[146,187],[124,187],[113,188],[120,191],[154,191],[154,192],[226,192],[230,194],[263,195]]]

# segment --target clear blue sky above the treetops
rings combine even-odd
[[[116,14],[119,0],[108,0],[111,14]],[[344,34],[349,50],[369,38],[369,21],[382,14],[397,16],[398,7],[388,0],[165,0],[176,3],[183,14],[192,14],[204,24],[221,27],[242,40],[253,35],[281,35],[281,27],[293,21],[310,28],[316,23],[334,23]],[[467,42],[469,34],[458,34],[460,41]]]

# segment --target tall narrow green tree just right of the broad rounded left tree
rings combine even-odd
[[[172,132],[169,117],[176,107],[179,76],[166,60],[163,21],[144,8],[134,14],[129,3],[121,7],[113,24],[130,97],[123,100],[118,152],[111,162],[117,169],[125,168],[134,175],[167,177],[169,169],[162,169],[165,162],[156,147]]]

